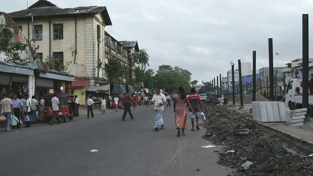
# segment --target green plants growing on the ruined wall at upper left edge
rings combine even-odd
[[[9,23],[0,24],[0,50],[11,53],[13,61],[23,61],[19,55],[19,51],[25,50],[27,44],[21,42],[13,42],[14,33]]]

